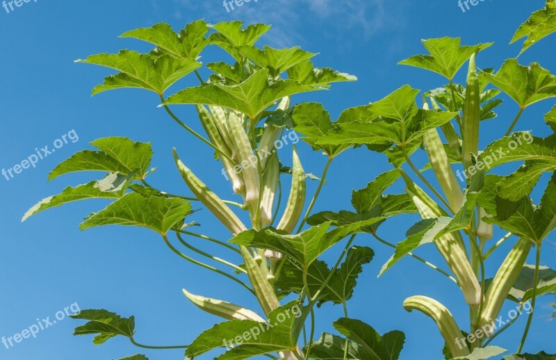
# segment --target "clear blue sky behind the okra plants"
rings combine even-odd
[[[51,145],[74,130],[76,142],[57,149],[36,168],[24,170],[10,181],[0,177],[0,336],[13,336],[37,322],[54,319],[57,311],[77,303],[81,309],[109,309],[122,316],[136,316],[136,339],[147,345],[190,343],[202,330],[219,322],[188,303],[181,288],[192,293],[223,298],[258,309],[245,291],[226,280],[184,263],[172,254],[156,234],[143,229],[104,227],[79,231],[85,215],[105,206],[104,202],[83,202],[42,213],[27,222],[20,219],[39,199],[58,193],[65,186],[93,179],[92,174],[74,174],[47,183],[47,174],[74,152],[89,148],[88,142],[106,136],[126,136],[152,142],[152,165],[158,171],[150,181],[170,193],[184,193],[174,168],[171,148],[177,147],[184,162],[222,197],[232,198],[229,183],[220,175],[220,165],[211,160],[211,151],[183,133],[157,108],[155,95],[140,90],[121,90],[90,97],[90,90],[109,74],[105,69],[75,64],[73,60],[100,52],[133,48],[149,49],[136,40],[118,39],[124,31],[168,22],[175,29],[204,18],[215,23],[230,19],[273,24],[260,45],[290,47],[318,52],[315,63],[357,75],[357,83],[334,85],[327,92],[297,97],[299,101],[319,101],[337,117],[344,108],[366,104],[409,83],[430,90],[443,79],[412,67],[396,65],[414,54],[422,54],[421,39],[445,35],[460,36],[464,44],[494,41],[477,59],[482,68],[498,68],[502,61],[518,54],[519,44],[508,45],[516,28],[543,1],[492,0],[480,2],[466,11],[455,0],[259,0],[245,3],[230,13],[220,0],[140,0],[140,1],[44,1],[24,3],[6,13],[0,8],[3,54],[0,58],[0,167],[13,167],[35,153],[35,148]],[[539,61],[556,71],[556,37],[543,40],[523,56],[521,63]],[[206,52],[206,62],[222,60],[215,50]],[[204,73],[206,74],[206,73]],[[460,74],[457,81],[462,81]],[[195,79],[181,81],[177,88],[195,85]],[[499,117],[489,120],[481,145],[502,135],[518,108],[505,99]],[[542,115],[553,102],[536,104],[522,117],[517,130],[532,130],[547,136]],[[175,109],[186,122],[195,122],[188,106]],[[285,149],[286,151],[288,149]],[[307,172],[320,174],[325,159],[300,145]],[[284,158],[286,154],[284,153]],[[287,157],[289,158],[289,156]],[[286,163],[288,163],[286,158]],[[423,158],[416,156],[416,162]],[[352,189],[363,188],[378,174],[389,170],[385,158],[364,149],[346,152],[332,165],[315,211],[350,208]],[[309,193],[316,183],[309,184]],[[205,234],[227,239],[227,231],[214,227],[207,211],[195,215]],[[398,242],[416,221],[407,217],[391,220],[382,228],[382,237]],[[501,234],[496,234],[501,235]],[[543,265],[556,268],[555,245],[548,239]],[[432,270],[405,259],[377,279],[391,249],[359,236],[359,245],[375,249],[375,259],[359,279],[350,301],[350,316],[373,325],[380,333],[400,329],[407,334],[402,359],[441,359],[443,346],[434,323],[420,313],[407,313],[403,300],[411,295],[428,295],[443,302],[461,324],[468,313],[459,290]],[[211,249],[211,247],[208,247]],[[493,275],[509,246],[493,256],[487,274]],[[336,253],[339,248],[336,249]],[[334,250],[332,250],[334,253]],[[419,252],[434,263],[442,263],[434,247]],[[222,256],[229,254],[222,253]],[[232,258],[230,258],[232,259]],[[326,257],[333,261],[332,256]],[[237,260],[237,259],[233,259]],[[547,322],[550,298],[542,298],[526,350],[556,352],[555,323]],[[511,306],[506,306],[502,314]],[[330,323],[342,316],[338,306],[320,309],[318,331],[329,331]],[[524,318],[498,338],[497,345],[516,350]],[[0,359],[119,359],[139,350],[124,338],[101,346],[92,338],[72,337],[80,323],[63,320],[6,350],[0,345]],[[142,352],[150,359],[181,359],[181,350]],[[208,358],[208,356],[203,357]]]

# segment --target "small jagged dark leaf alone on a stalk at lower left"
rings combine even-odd
[[[105,343],[109,338],[118,335],[131,339],[135,333],[135,318],[133,316],[122,318],[116,313],[106,310],[83,310],[71,317],[88,320],[85,325],[75,328],[74,335],[97,334],[92,341],[95,345]]]

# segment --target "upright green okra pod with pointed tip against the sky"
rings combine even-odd
[[[464,103],[464,133],[461,137],[464,141],[464,165],[466,169],[473,165],[471,154],[475,156],[479,152],[479,122],[481,117],[480,108],[480,86],[475,64],[475,54],[469,59],[469,70],[467,74],[467,86]]]

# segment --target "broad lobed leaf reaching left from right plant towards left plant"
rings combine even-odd
[[[419,90],[404,85],[387,97],[370,104],[367,122],[337,124],[320,145],[384,145],[408,146],[427,131],[452,120],[456,113],[425,111],[417,107],[415,98]],[[390,146],[388,146],[390,145]]]

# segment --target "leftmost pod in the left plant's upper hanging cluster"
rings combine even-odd
[[[222,134],[216,126],[216,117],[224,116],[224,112],[222,108],[218,108],[218,106],[211,106],[211,108],[213,109],[213,115],[211,115],[211,113],[209,113],[204,106],[197,105],[199,120],[201,120],[201,124],[203,125],[208,138],[211,139],[211,142],[222,152],[225,152],[225,155],[231,157],[231,149],[229,148],[228,143],[224,141],[224,138],[222,138]],[[217,108],[219,111],[216,110]],[[245,183],[243,182],[242,175],[239,172],[236,172],[234,168],[236,164],[229,161],[229,159],[226,156],[222,156],[222,154],[219,154],[219,156],[220,161],[222,161],[222,165],[224,166],[224,170],[227,172],[227,176],[231,181],[234,193],[241,195],[243,199],[245,199]]]

